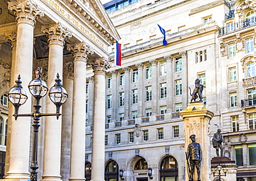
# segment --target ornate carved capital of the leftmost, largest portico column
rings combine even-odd
[[[8,2],[8,10],[15,11],[17,23],[28,23],[35,26],[35,19],[44,17],[44,11],[30,0]]]

